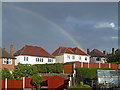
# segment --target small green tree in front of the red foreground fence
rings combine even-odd
[[[39,74],[32,76],[32,82],[36,85],[37,90],[40,90],[43,81],[43,77],[39,76]]]

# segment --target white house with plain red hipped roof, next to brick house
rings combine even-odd
[[[25,45],[14,53],[15,66],[21,64],[45,64],[55,63],[55,57],[40,46]]]

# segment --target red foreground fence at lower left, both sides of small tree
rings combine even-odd
[[[48,89],[60,89],[60,88],[67,88],[68,79],[55,75],[55,76],[43,76],[44,82],[42,86],[48,87]],[[2,80],[2,90],[24,90],[25,88],[36,88],[32,84],[32,78],[23,78],[20,80],[16,79],[5,79]],[[1,84],[0,82],[0,84]]]

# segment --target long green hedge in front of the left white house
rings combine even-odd
[[[36,65],[27,65],[27,64],[18,64],[16,69],[13,72],[15,79],[20,79],[21,77],[31,77],[37,73],[62,73],[63,64],[36,64]]]

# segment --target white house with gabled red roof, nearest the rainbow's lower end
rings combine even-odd
[[[90,62],[90,55],[86,54],[81,49],[75,47],[59,47],[56,49],[52,55],[55,56],[57,63],[67,63],[67,62]]]

